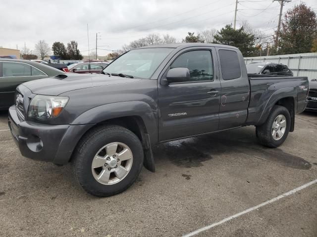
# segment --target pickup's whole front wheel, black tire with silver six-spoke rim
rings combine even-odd
[[[143,164],[139,138],[121,126],[99,126],[85,134],[74,153],[74,174],[91,195],[107,197],[129,188]]]

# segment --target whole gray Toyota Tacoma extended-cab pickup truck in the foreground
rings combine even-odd
[[[306,77],[248,75],[238,48],[163,44],[121,55],[99,75],[60,75],[17,87],[8,124],[24,157],[72,162],[79,184],[106,197],[126,190],[151,146],[256,126],[278,147],[307,104]]]

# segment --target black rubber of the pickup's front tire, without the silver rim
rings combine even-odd
[[[126,144],[132,152],[133,162],[124,179],[113,185],[104,185],[94,178],[91,165],[97,152],[112,142]],[[74,164],[75,176],[83,189],[94,196],[115,195],[125,191],[136,180],[142,168],[143,156],[142,144],[134,133],[119,126],[106,127],[97,131],[79,147]]]

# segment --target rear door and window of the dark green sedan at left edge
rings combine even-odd
[[[15,89],[23,82],[47,78],[41,70],[21,62],[0,62],[0,107],[14,104]]]

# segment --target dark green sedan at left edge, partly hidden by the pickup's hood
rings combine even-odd
[[[30,60],[0,59],[0,110],[14,104],[15,88],[26,81],[54,77],[64,72]]]

